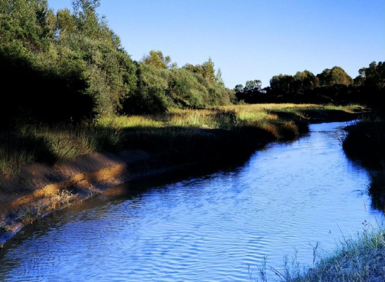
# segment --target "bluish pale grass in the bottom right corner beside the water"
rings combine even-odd
[[[321,252],[317,242],[313,247],[311,267],[300,264],[296,250],[292,256],[285,255],[283,266],[279,270],[269,267],[278,277],[278,279],[275,277],[274,281],[385,281],[385,230],[379,223],[376,227],[367,221],[362,224],[362,231],[357,232],[355,236],[342,236],[342,240],[331,253]],[[266,258],[264,258],[260,269],[260,280],[256,278],[254,281],[268,280]]]

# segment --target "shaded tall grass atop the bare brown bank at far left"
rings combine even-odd
[[[53,164],[83,154],[113,151],[122,143],[119,128],[94,125],[22,125],[0,132],[0,175],[9,176],[35,161]]]

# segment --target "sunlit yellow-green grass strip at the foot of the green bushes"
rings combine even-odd
[[[233,122],[246,122],[247,125],[256,122],[266,122],[278,120],[278,116],[272,111],[290,112],[297,118],[305,118],[304,110],[340,110],[344,112],[354,112],[355,109],[362,108],[359,105],[333,106],[316,104],[253,104],[253,105],[232,105],[213,107],[208,109],[172,109],[166,114],[145,115],[145,116],[120,116],[101,118],[97,124],[101,126],[113,127],[202,127],[202,128],[221,128],[228,126],[223,123],[231,115],[234,115]],[[221,119],[223,118],[223,119]],[[236,118],[236,120],[234,120]],[[243,125],[244,123],[240,123]]]

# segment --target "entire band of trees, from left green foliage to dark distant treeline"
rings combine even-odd
[[[152,50],[133,61],[97,13],[99,5],[73,0],[71,11],[54,13],[47,0],[0,0],[2,126],[240,102],[376,105],[385,85],[384,63],[373,62],[354,80],[334,67],[317,76],[307,70],[280,74],[264,89],[258,80],[228,89],[210,58],[178,67]]]

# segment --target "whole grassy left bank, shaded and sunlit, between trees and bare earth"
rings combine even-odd
[[[79,155],[133,148],[196,157],[220,152],[232,157],[269,141],[293,139],[307,130],[312,118],[349,119],[361,109],[356,105],[258,104],[114,116],[76,125],[18,124],[0,131],[0,174],[14,175],[32,162],[53,165]]]

